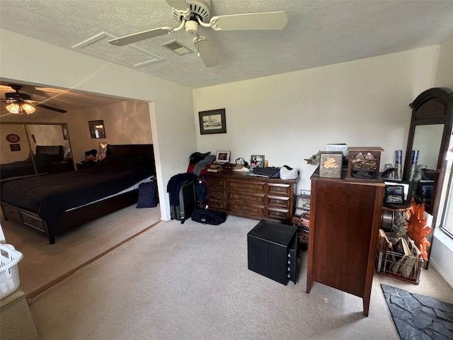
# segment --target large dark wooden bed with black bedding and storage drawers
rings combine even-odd
[[[153,145],[108,145],[91,169],[1,182],[5,219],[55,236],[137,203],[138,185],[156,175]]]

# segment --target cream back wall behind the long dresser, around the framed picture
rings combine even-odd
[[[439,46],[272,77],[195,89],[200,152],[230,150],[231,159],[264,154],[270,166],[301,171],[309,189],[309,158],[328,143],[382,147],[381,168],[406,151],[411,108],[434,83]],[[226,134],[200,135],[198,112],[226,109]],[[404,156],[404,155],[403,155]]]

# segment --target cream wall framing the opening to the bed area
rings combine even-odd
[[[170,219],[166,183],[186,171],[188,157],[196,149],[191,89],[4,29],[0,30],[0,77],[152,102],[149,115],[161,213],[164,220]]]

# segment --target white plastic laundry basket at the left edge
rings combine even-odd
[[[0,244],[0,300],[19,288],[17,264],[22,257],[22,253],[11,244]]]

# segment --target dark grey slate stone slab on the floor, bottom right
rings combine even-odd
[[[402,340],[453,339],[453,305],[381,284]]]

